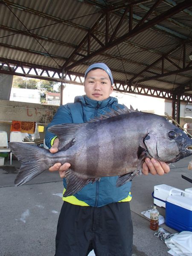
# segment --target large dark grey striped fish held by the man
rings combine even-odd
[[[59,139],[59,151],[24,143],[9,143],[22,163],[15,184],[26,183],[54,163],[71,164],[66,172],[65,196],[73,195],[100,177],[116,176],[122,186],[141,174],[145,157],[174,163],[192,154],[192,140],[162,116],[131,112],[128,108],[112,111],[92,122],[54,125],[49,131]]]

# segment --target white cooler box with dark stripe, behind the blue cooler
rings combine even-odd
[[[154,186],[154,204],[159,207],[166,207],[166,198],[169,196],[169,191],[175,189],[172,186],[165,184]]]

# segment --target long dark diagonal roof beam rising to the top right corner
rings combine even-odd
[[[175,15],[176,13],[180,12],[181,10],[183,10],[191,5],[192,5],[191,0],[185,0],[182,3],[179,3],[177,6],[172,7],[171,9],[164,12],[163,14],[161,14],[157,17],[154,17],[153,19],[142,24],[138,28],[133,29],[130,32],[126,33],[125,35],[112,41],[111,43],[107,44],[105,47],[101,47],[100,49],[96,50],[95,52],[91,53],[90,55],[87,55],[86,57],[81,58],[79,61],[76,61],[75,63],[65,67],[66,70],[70,70],[71,68],[76,67],[77,65],[81,64],[82,61],[87,61],[88,59],[98,55],[99,53],[105,52],[105,50],[107,50],[107,49],[111,49],[112,47],[116,46],[117,44],[120,44],[123,41],[128,40],[129,38],[132,38],[134,35],[137,35],[138,33],[143,32],[144,30],[150,28],[151,26],[154,26],[155,24],[160,23],[161,21],[165,20],[166,18],[171,17],[172,15]]]

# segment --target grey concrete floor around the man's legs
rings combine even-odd
[[[163,176],[141,175],[132,183],[131,215],[134,224],[133,256],[166,256],[166,244],[154,236],[149,220],[141,212],[151,209],[151,193],[155,185],[167,184],[179,189],[192,187],[181,174],[192,177],[187,169],[191,157],[171,165]],[[53,256],[55,232],[61,209],[62,181],[58,173],[44,172],[29,183],[15,187],[14,180],[20,163],[12,166],[5,161],[0,166],[0,256]],[[165,209],[157,207],[165,216]],[[178,233],[161,225],[171,233]],[[94,256],[92,251],[89,256]]]

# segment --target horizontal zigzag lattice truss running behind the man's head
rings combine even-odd
[[[20,70],[19,70],[20,69]],[[42,67],[40,65],[35,65],[26,62],[12,61],[5,58],[0,58],[0,73],[15,75],[15,76],[25,76],[33,77],[36,79],[44,79],[49,81],[66,82],[71,84],[83,84],[84,74],[68,71],[64,78],[61,70]],[[35,73],[35,74],[34,74]],[[189,88],[189,84],[183,85],[182,91],[184,92],[186,88]],[[148,87],[143,84],[137,84],[137,86],[131,86],[125,83],[125,81],[114,81],[114,90],[123,93],[134,93],[145,96],[153,96],[163,99],[172,99],[172,90],[165,90],[161,88]],[[182,94],[180,100],[183,102],[192,102],[192,95]]]

